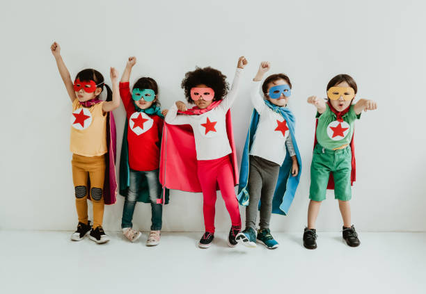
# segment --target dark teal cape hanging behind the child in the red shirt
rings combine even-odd
[[[129,143],[127,142],[127,126],[128,120],[126,118],[125,129],[123,132],[123,143],[121,145],[121,154],[120,154],[120,195],[127,197],[129,193],[130,186],[130,167],[129,167]],[[168,204],[168,189],[163,189],[161,204]],[[151,203],[150,194],[148,190],[148,181],[143,177],[141,183],[141,190],[136,199],[137,202]]]

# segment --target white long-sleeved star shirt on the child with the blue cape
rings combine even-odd
[[[287,122],[279,114],[269,108],[260,95],[260,81],[253,81],[251,85],[251,101],[260,118],[258,129],[253,138],[250,155],[265,158],[268,161],[282,165],[287,151],[294,156],[294,147]]]

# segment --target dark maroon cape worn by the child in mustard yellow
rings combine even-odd
[[[81,105],[89,107],[102,102],[99,99],[93,99],[85,101]],[[116,140],[116,122],[112,111],[107,113],[107,146],[108,152],[105,154],[105,179],[103,196],[104,202],[107,205],[115,204],[117,202],[117,177],[116,177],[116,155],[117,155],[117,140]],[[90,177],[88,177],[87,183],[88,191],[90,191]],[[90,193],[87,196],[90,199]]]

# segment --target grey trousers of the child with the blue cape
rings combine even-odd
[[[259,227],[260,229],[269,229],[272,198],[280,173],[280,165],[253,155],[250,156],[249,161],[248,193],[250,193],[250,200],[246,207],[246,229],[251,227],[255,230],[259,200],[262,202]]]

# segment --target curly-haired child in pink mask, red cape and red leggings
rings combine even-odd
[[[246,58],[238,59],[228,92],[226,76],[212,67],[187,72],[182,81],[185,97],[193,108],[177,101],[169,109],[161,141],[160,183],[164,188],[203,192],[205,233],[198,246],[208,248],[214,239],[216,190],[230,214],[228,245],[237,245],[241,231],[238,200],[237,156],[232,134],[230,106],[237,97]]]

